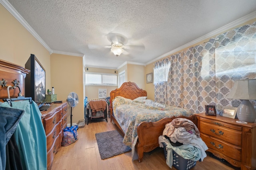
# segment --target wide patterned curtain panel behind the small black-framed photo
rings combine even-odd
[[[194,113],[216,104],[214,39],[184,51],[184,108]]]

